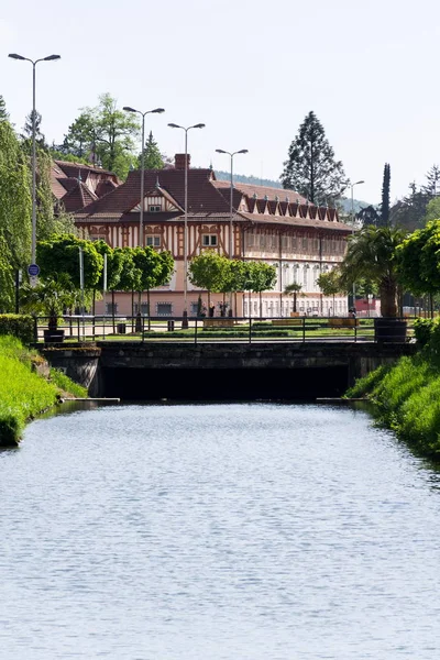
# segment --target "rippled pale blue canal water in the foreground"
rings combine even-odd
[[[440,475],[363,411],[127,405],[0,453],[1,660],[432,660]]]

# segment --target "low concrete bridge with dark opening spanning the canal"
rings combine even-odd
[[[410,343],[102,341],[42,353],[90,396],[255,400],[340,396],[358,377],[415,351]]]

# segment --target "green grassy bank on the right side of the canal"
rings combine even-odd
[[[381,424],[417,453],[440,461],[440,323],[417,324],[420,351],[393,366],[381,366],[345,396],[366,396]]]

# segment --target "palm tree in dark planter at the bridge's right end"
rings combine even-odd
[[[346,287],[361,278],[377,285],[382,316],[387,318],[398,316],[395,250],[404,238],[405,233],[394,227],[364,227],[350,239],[341,264],[341,280]]]

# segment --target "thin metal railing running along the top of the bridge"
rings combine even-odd
[[[35,317],[35,341],[43,343],[134,341],[261,343],[316,341],[402,342],[413,338],[414,318],[346,317],[144,317],[65,316],[57,328]]]

